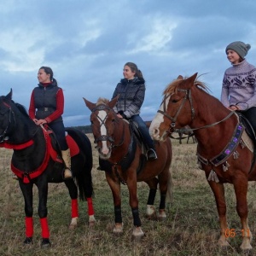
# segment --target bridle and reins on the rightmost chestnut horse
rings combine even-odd
[[[208,127],[212,127],[214,125],[218,125],[219,123],[223,122],[224,120],[226,119],[229,119],[230,116],[235,113],[235,111],[232,111],[230,112],[226,117],[224,117],[224,119],[221,119],[220,121],[217,121],[213,124],[210,124],[210,125],[204,125],[204,126],[201,126],[201,127],[197,127],[197,128],[180,128],[180,129],[174,129],[175,126],[176,126],[176,121],[177,121],[177,116],[178,114],[180,113],[180,111],[182,110],[185,102],[187,101],[187,99],[189,99],[189,103],[190,103],[190,108],[191,108],[191,121],[193,121],[193,119],[195,119],[195,108],[193,107],[193,101],[192,101],[192,96],[191,96],[191,89],[188,89],[188,90],[184,90],[184,89],[177,89],[177,91],[182,91],[182,92],[185,92],[185,96],[183,97],[183,101],[182,103],[180,104],[179,108],[177,108],[177,112],[175,113],[174,117],[172,117],[171,115],[169,115],[167,112],[166,112],[166,98],[168,98],[169,96],[172,96],[172,94],[169,94],[169,95],[166,95],[161,103],[161,105],[163,104],[163,109],[164,111],[162,110],[158,110],[157,112],[158,113],[161,113],[163,114],[164,116],[166,116],[167,119],[170,119],[172,121],[171,125],[170,125],[170,128],[168,131],[166,131],[167,133],[171,134],[173,131],[176,131],[176,132],[184,132],[184,131],[196,131],[196,130],[200,130],[200,129],[204,129],[204,128],[208,128]],[[161,106],[160,105],[160,106]]]

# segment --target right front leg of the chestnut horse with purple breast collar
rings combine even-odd
[[[248,225],[248,207],[247,207],[247,189],[248,183],[246,180],[236,180],[234,182],[234,189],[236,193],[236,211],[241,219],[241,230],[242,230],[242,242],[241,242],[241,249],[248,250],[252,249],[251,241],[252,241],[252,233],[249,229]]]

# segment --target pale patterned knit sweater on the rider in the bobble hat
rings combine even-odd
[[[241,110],[256,107],[256,67],[246,60],[224,73],[221,102],[225,107],[238,105]]]

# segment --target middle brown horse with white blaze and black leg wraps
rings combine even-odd
[[[105,160],[110,168],[106,171],[108,185],[112,190],[115,225],[113,233],[123,232],[121,216],[120,183],[127,184],[130,195],[130,206],[133,216],[134,230],[132,238],[139,240],[144,236],[138,211],[137,182],[144,181],[150,188],[147,204],[147,216],[156,215],[154,196],[159,183],[160,207],[158,218],[166,218],[166,195],[171,196],[172,176],[170,166],[172,161],[172,144],[168,139],[163,143],[156,143],[157,160],[145,160],[142,148],[131,132],[131,125],[125,119],[119,119],[113,111],[118,97],[111,102],[100,98],[92,103],[84,99],[91,110],[90,122],[95,137],[96,148],[100,160]]]

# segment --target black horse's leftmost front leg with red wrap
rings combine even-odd
[[[20,181],[20,189],[22,191],[25,201],[25,226],[26,226],[26,238],[24,244],[32,244],[33,236],[33,207],[32,207],[32,183],[23,183]]]

